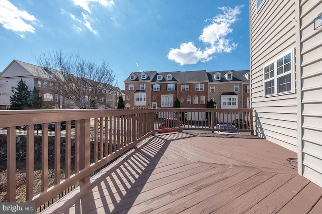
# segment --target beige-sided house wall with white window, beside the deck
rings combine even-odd
[[[251,105],[257,135],[297,152],[322,187],[320,0],[251,0]]]

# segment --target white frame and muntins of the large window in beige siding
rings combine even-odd
[[[291,70],[288,71],[288,72],[285,72],[283,74],[280,74],[280,75],[277,75],[277,60],[285,57],[286,55],[288,54],[291,54]],[[265,67],[269,66],[270,64],[273,64],[274,63],[274,77],[271,77],[267,80],[265,80]],[[281,54],[280,56],[276,57],[274,60],[266,63],[264,66],[263,66],[263,96],[264,97],[273,97],[273,96],[279,96],[279,95],[284,95],[284,94],[292,94],[295,92],[295,82],[294,82],[294,70],[295,70],[295,66],[294,66],[294,49],[291,49],[283,54]],[[284,92],[280,92],[278,93],[277,91],[277,79],[278,77],[282,77],[282,76],[285,76],[285,75],[288,75],[288,74],[291,74],[291,90],[290,91],[284,91]],[[268,94],[268,95],[265,95],[265,91],[266,91],[266,88],[265,88],[265,83],[266,82],[269,82],[269,81],[272,81],[274,80],[274,94]]]

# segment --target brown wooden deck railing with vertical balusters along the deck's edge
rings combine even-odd
[[[6,110],[0,111],[0,127],[7,135],[7,202],[16,202],[16,127],[26,125],[26,201],[39,207],[75,183],[89,182],[90,174],[135,147],[155,132],[203,130],[218,131],[216,124],[234,125],[253,134],[252,109],[79,109],[79,110]],[[176,118],[175,126],[159,126],[166,118]],[[65,122],[66,121],[66,122]],[[242,121],[243,123],[240,123]],[[54,185],[48,186],[48,124],[61,127],[54,131]],[[182,123],[180,125],[179,123]],[[41,192],[34,192],[34,125],[41,124]],[[242,124],[242,125],[240,125]],[[21,132],[20,132],[21,133]],[[0,132],[1,134],[1,132]],[[71,140],[74,157],[71,159]],[[102,142],[102,143],[101,143]],[[62,157],[61,145],[65,155]],[[94,148],[91,148],[92,147]],[[93,146],[94,145],[94,146]],[[64,177],[61,178],[61,159]],[[74,161],[73,164],[71,161]],[[71,165],[74,165],[73,172]]]

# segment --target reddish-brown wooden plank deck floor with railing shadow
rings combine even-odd
[[[322,213],[296,153],[256,136],[150,138],[43,213]]]

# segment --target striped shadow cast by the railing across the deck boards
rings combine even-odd
[[[183,133],[183,137],[191,135]],[[133,205],[172,140],[163,136],[149,139],[121,157],[116,165],[94,176],[91,183],[81,186],[72,198],[68,199],[67,195],[58,202],[63,204],[51,211],[69,213],[74,206],[77,213],[124,212]]]

